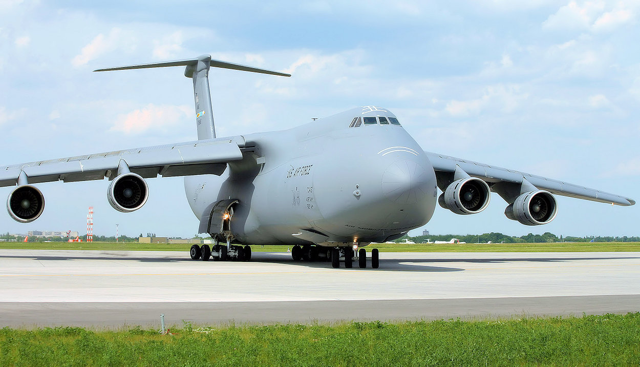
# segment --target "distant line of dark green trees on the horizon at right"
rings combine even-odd
[[[426,243],[430,241],[449,241],[452,238],[458,238],[461,242],[467,243],[544,243],[544,242],[640,242],[639,236],[556,236],[551,232],[544,232],[543,234],[525,234],[524,236],[516,237],[502,234],[500,232],[491,232],[483,234],[429,234],[428,236],[404,236],[396,240],[396,242],[403,241],[404,238],[408,238],[415,243]]]

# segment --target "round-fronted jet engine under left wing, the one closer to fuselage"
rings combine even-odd
[[[122,213],[130,213],[142,208],[148,197],[149,188],[145,179],[131,172],[113,179],[107,191],[109,204]]]

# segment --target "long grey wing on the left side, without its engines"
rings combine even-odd
[[[226,162],[243,158],[240,147],[244,147],[243,136],[234,136],[0,166],[0,186],[15,185],[21,172],[29,184],[114,179],[120,161],[143,178],[220,175]]]

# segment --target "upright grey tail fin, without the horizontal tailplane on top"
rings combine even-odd
[[[184,76],[193,78],[193,99],[196,105],[198,140],[216,137],[213,108],[211,106],[211,91],[209,90],[209,67],[211,67],[211,55],[200,55],[195,65],[188,65],[184,69]]]

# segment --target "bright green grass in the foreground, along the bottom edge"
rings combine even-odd
[[[0,366],[638,366],[640,313],[338,325],[0,329]]]

